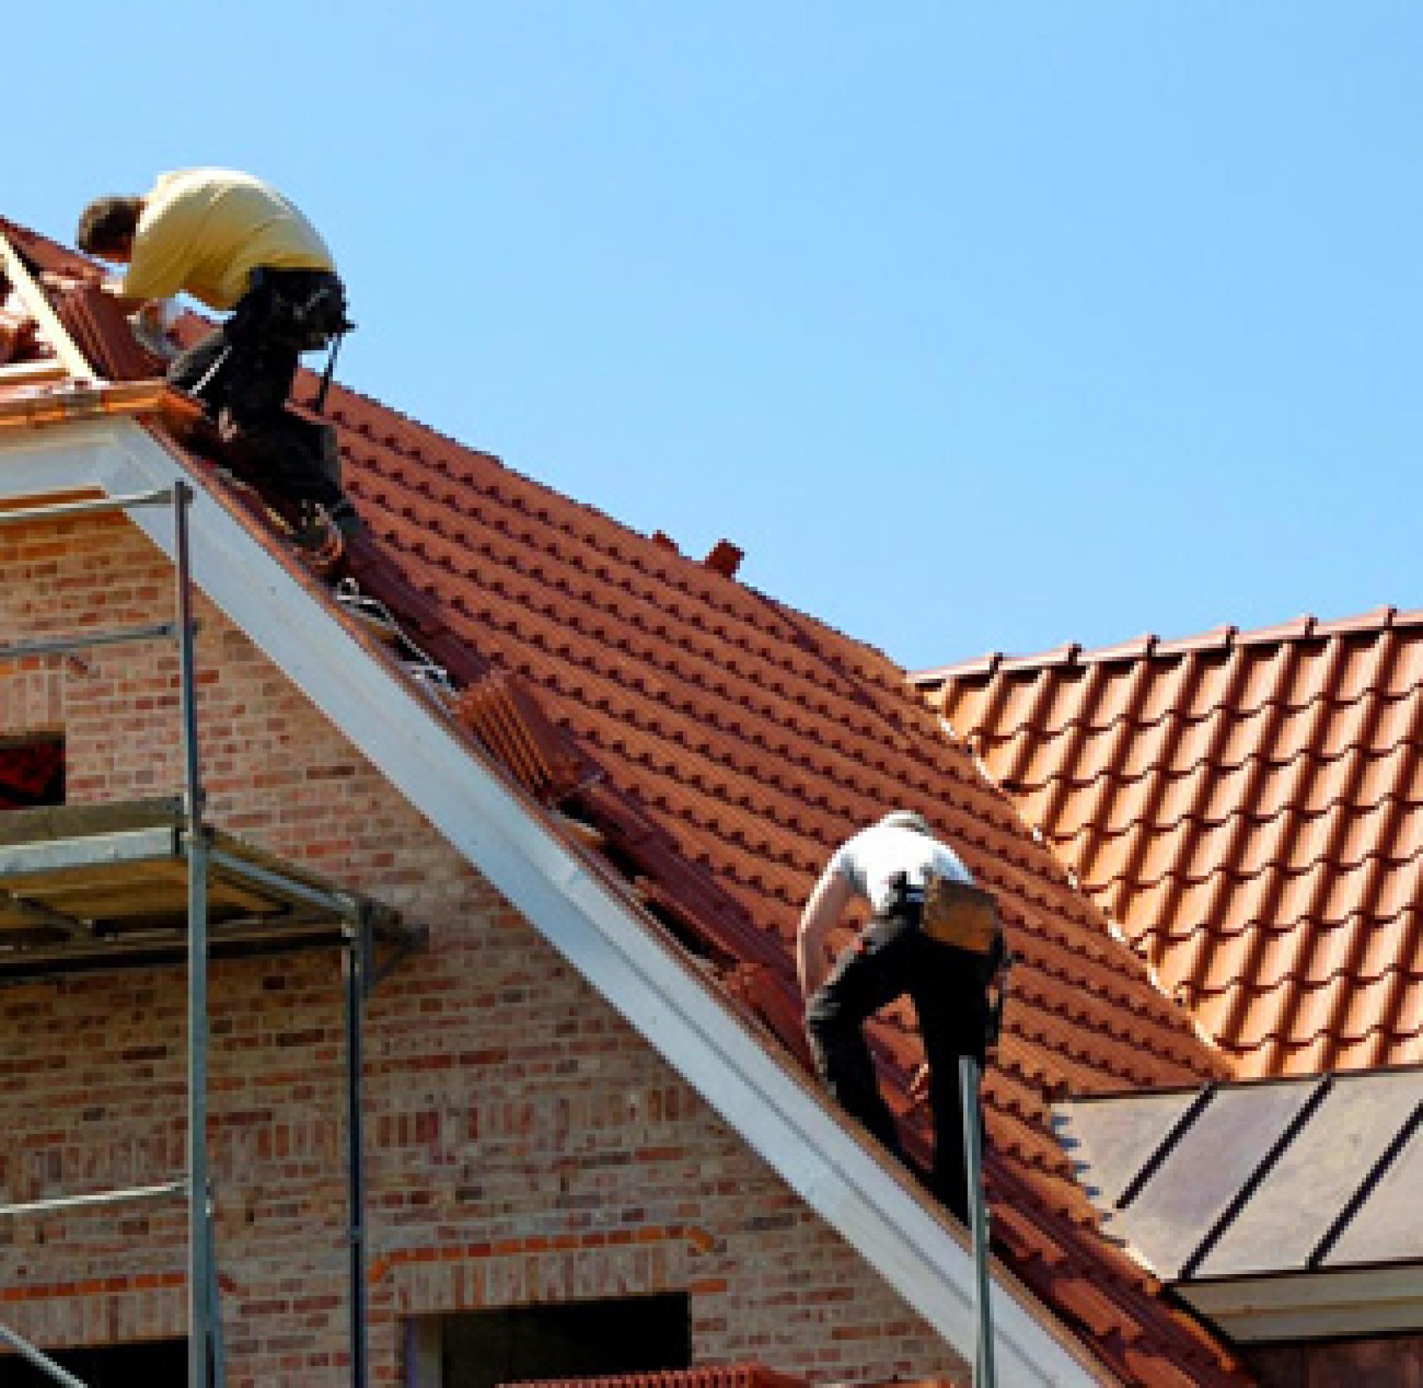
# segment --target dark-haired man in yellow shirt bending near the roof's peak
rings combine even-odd
[[[312,223],[250,174],[181,169],[142,198],[91,202],[78,246],[127,266],[105,287],[128,311],[178,293],[232,310],[172,361],[168,380],[202,400],[245,471],[322,506],[342,533],[359,530],[334,431],[286,408],[300,354],[350,327],[346,290]]]

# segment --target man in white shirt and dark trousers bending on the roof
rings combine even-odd
[[[894,1115],[875,1078],[864,1024],[909,994],[919,1018],[933,1112],[935,1197],[966,1220],[961,1055],[983,1064],[990,970],[980,954],[942,944],[919,929],[932,876],[972,883],[958,855],[928,821],[895,811],[848,839],[830,859],[801,914],[795,963],[815,1068],[840,1105],[904,1160]],[[855,899],[874,914],[831,964],[827,941]]]

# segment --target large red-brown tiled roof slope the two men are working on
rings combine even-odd
[[[122,324],[101,327],[122,338]],[[313,384],[303,377],[303,400]],[[729,1003],[800,1064],[791,941],[830,852],[899,805],[953,840],[998,893],[1020,960],[985,1092],[1003,1259],[1124,1379],[1244,1382],[1100,1236],[1049,1126],[1067,1092],[1227,1068],[905,673],[729,577],[734,546],[683,557],[340,388],[329,415],[371,528],[350,548],[350,575],[448,671],[465,725],[565,812],[572,839],[601,846]],[[924,1158],[906,1008],[884,1017],[874,1045]]]

